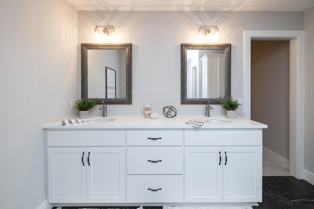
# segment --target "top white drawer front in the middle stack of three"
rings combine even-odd
[[[127,131],[128,146],[182,146],[183,131]]]

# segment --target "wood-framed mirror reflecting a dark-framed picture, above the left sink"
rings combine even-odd
[[[82,98],[131,104],[131,44],[81,44]]]

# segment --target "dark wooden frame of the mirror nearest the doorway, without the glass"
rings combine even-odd
[[[186,50],[225,51],[225,95],[231,95],[231,44],[181,44],[181,104],[220,104],[223,98],[186,98]]]

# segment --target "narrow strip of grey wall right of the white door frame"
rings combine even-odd
[[[305,169],[314,174],[314,7],[305,12],[304,29],[306,41]]]

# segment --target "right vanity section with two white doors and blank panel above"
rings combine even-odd
[[[261,130],[184,132],[185,202],[261,202]]]

